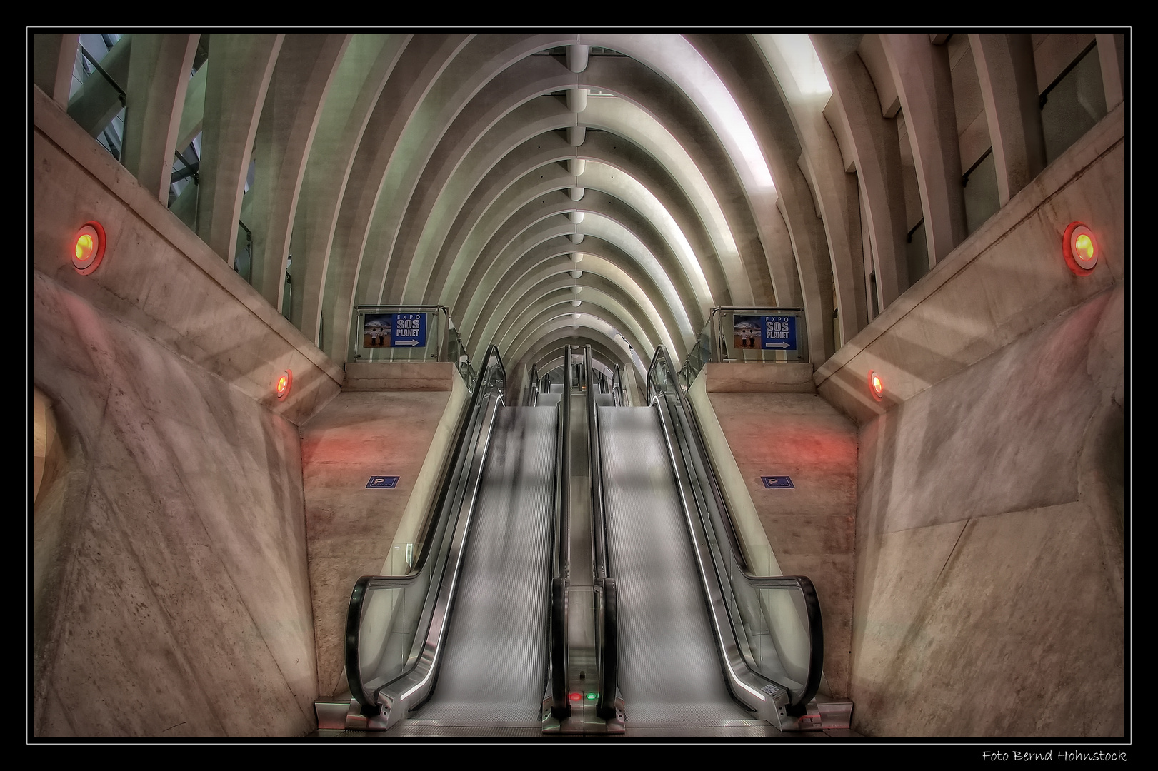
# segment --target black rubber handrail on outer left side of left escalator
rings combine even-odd
[[[506,390],[506,369],[503,366],[501,357],[499,357],[498,346],[492,345],[488,350],[485,362],[483,373],[475,382],[475,391],[471,394],[470,405],[464,411],[459,425],[453,455],[454,460],[452,463],[447,464],[447,469],[440,480],[438,499],[431,508],[431,513],[426,517],[426,523],[423,529],[424,538],[426,538],[423,543],[426,544],[426,548],[419,553],[418,563],[413,566],[412,571],[405,575],[362,575],[354,582],[353,590],[351,592],[350,603],[346,610],[346,682],[350,685],[350,693],[361,705],[361,712],[364,715],[372,717],[381,713],[381,705],[378,703],[376,698],[376,693],[381,690],[381,688],[375,689],[374,692],[367,689],[367,685],[361,676],[361,667],[359,663],[361,622],[367,593],[371,589],[405,588],[416,583],[423,572],[427,568],[427,558],[431,553],[438,553],[440,557],[439,560],[435,560],[435,563],[430,566],[431,570],[434,573],[441,573],[445,570],[446,549],[444,546],[446,545],[446,526],[448,524],[449,513],[455,509],[453,505],[454,499],[457,498],[455,493],[462,487],[463,475],[467,469],[469,469],[470,461],[475,455],[475,453],[471,451],[471,445],[477,445],[477,434],[483,418],[482,407],[488,401],[486,397],[494,390],[498,390],[500,395]],[[492,387],[496,381],[501,381],[501,387],[498,389],[489,388]],[[475,441],[471,441],[471,439]],[[475,449],[477,449],[477,447]],[[468,457],[468,455],[471,457]],[[439,565],[438,563],[440,561],[444,564]],[[441,583],[441,581],[435,581],[434,577],[432,577],[431,588],[427,590],[427,605],[431,603],[433,595],[437,594],[437,592],[433,592],[432,589],[434,589],[439,583]],[[425,608],[423,616],[425,621],[425,617],[427,616]],[[416,633],[416,638],[418,636]]]

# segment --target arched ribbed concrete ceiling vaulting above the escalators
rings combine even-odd
[[[928,57],[895,37],[889,56]],[[446,306],[474,357],[529,361],[581,332],[629,366],[624,340],[682,359],[711,308],[753,304],[802,307],[820,365],[868,322],[868,292],[884,308],[907,286],[896,141],[859,41],[214,35],[155,118],[205,131],[174,212],[230,264],[229,212],[249,218],[255,287],[339,360],[358,304]],[[171,166],[155,144],[134,152]],[[157,157],[134,163],[155,186]]]

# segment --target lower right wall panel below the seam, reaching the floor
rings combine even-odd
[[[1120,736],[1122,607],[1089,507],[884,534],[859,555],[851,697],[870,736]],[[862,602],[862,597],[866,597]]]

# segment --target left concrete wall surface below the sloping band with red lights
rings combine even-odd
[[[39,272],[32,299],[35,382],[71,438],[41,501],[34,733],[312,730],[296,427]]]

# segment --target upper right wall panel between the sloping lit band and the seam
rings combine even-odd
[[[1113,296],[1094,298],[878,418],[877,438],[863,438],[862,448],[868,464],[887,470],[888,489],[867,484],[863,499],[887,512],[886,531],[1077,499],[1073,469],[1102,401],[1086,359],[1106,314],[1119,313]]]

